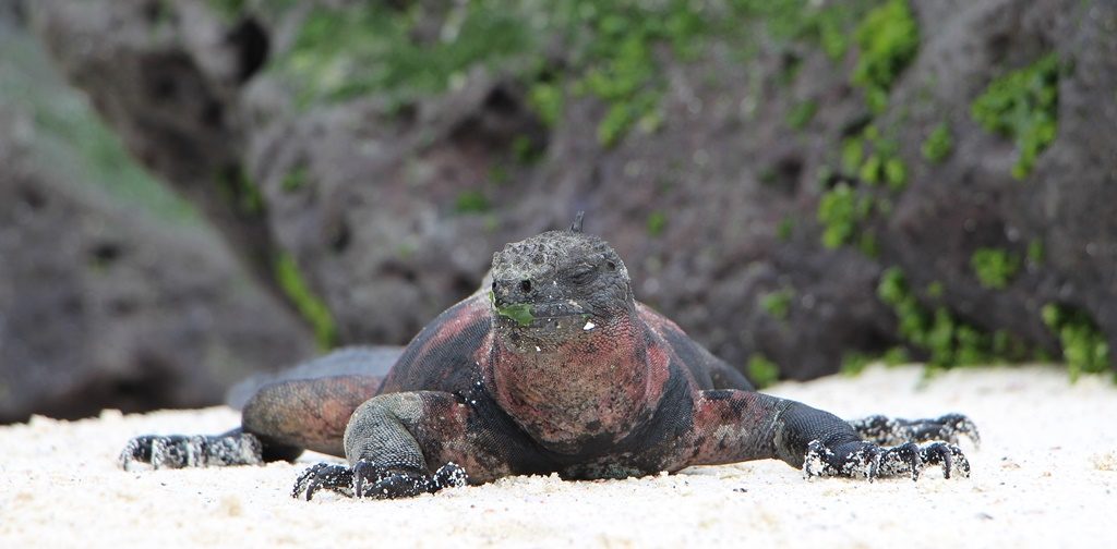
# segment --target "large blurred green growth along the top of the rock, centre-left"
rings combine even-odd
[[[602,99],[607,110],[598,137],[612,146],[633,126],[655,129],[661,123],[663,83],[656,45],[666,42],[676,55],[693,56],[707,25],[701,7],[686,0],[424,6],[318,6],[275,68],[296,85],[299,105],[308,106],[373,93],[404,102],[454,87],[475,66],[515,60],[510,65],[523,67],[518,77],[528,85],[528,105],[548,125],[561,118],[567,89]],[[417,38],[418,22],[436,18],[443,20],[439,36]],[[562,73],[547,66],[546,48],[554,36],[572,48],[572,65]]]

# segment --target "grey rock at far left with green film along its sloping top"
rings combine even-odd
[[[0,423],[217,404],[312,354],[13,22],[0,17]]]

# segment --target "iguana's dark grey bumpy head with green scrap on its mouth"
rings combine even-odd
[[[592,337],[636,310],[617,252],[581,231],[550,231],[493,256],[494,330],[514,353],[543,353]]]

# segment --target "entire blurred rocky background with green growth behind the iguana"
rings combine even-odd
[[[403,344],[565,227],[761,384],[1117,345],[1109,0],[0,0],[0,421]]]

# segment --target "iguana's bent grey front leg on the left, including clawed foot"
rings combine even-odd
[[[486,422],[478,421],[475,406],[476,401],[441,392],[376,396],[345,428],[350,464],[312,466],[292,495],[309,500],[327,489],[356,498],[407,498],[509,474],[496,445],[484,443]]]

